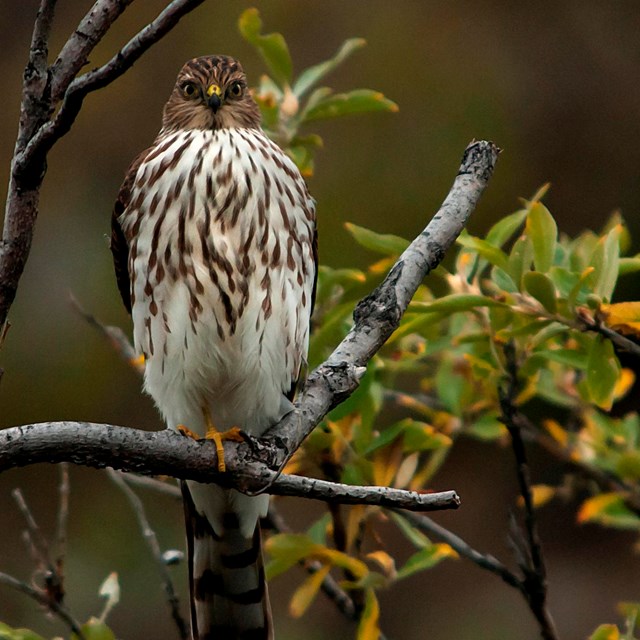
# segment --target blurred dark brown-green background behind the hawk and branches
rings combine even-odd
[[[0,184],[8,180],[17,129],[21,76],[35,0],[0,1]],[[60,2],[51,50],[56,53],[89,8]],[[135,3],[91,57],[105,62],[163,3]],[[250,81],[263,71],[241,40],[243,2],[208,2],[185,18],[124,77],[90,95],[71,133],[49,157],[36,235],[12,328],[0,354],[0,427],[77,419],[158,429],[140,382],[69,305],[73,292],[92,313],[129,330],[112,274],[105,234],[111,206],[133,157],[154,138],[162,106],[182,63],[197,55],[240,58]],[[325,140],[310,188],[318,201],[320,256],[333,266],[365,266],[345,221],[411,237],[446,195],[472,138],[503,149],[498,169],[470,225],[481,233],[515,210],[517,198],[542,183],[559,227],[600,228],[620,208],[632,235],[640,231],[640,5],[617,2],[255,2],[266,31],[282,32],[298,70],[329,57],[347,37],[368,47],[330,79],[336,89],[368,87],[395,100],[397,114],[319,123]],[[628,296],[637,286],[627,283]],[[533,452],[536,482],[558,470]],[[10,498],[20,486],[45,530],[55,524],[57,470],[50,466],[0,476],[0,571],[28,579],[31,563],[22,522]],[[118,571],[123,602],[110,621],[122,638],[172,638],[156,568],[128,504],[104,473],[71,470],[68,604],[86,619],[100,608],[97,589]],[[478,549],[510,559],[508,510],[517,495],[508,451],[477,442],[456,445],[434,488],[463,499],[439,522]],[[181,547],[180,505],[146,494],[164,547]],[[304,526],[317,505],[282,501]],[[540,512],[548,554],[550,607],[563,638],[584,638],[615,621],[615,603],[640,599],[640,559],[632,534],[574,524],[575,505]],[[389,528],[386,533],[390,534]],[[385,531],[383,530],[383,533]],[[389,536],[404,557],[404,542]],[[636,548],[637,551],[637,548]],[[185,592],[184,568],[174,571]],[[299,621],[288,619],[295,572],[272,585],[281,638],[349,638],[351,627],[322,599]],[[382,626],[391,638],[498,640],[537,638],[522,599],[493,575],[463,561],[446,562],[382,594]],[[184,610],[186,612],[186,601]],[[24,596],[0,587],[0,620],[62,633]]]

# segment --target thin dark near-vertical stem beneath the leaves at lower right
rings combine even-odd
[[[502,411],[500,419],[507,427],[511,436],[511,444],[516,459],[518,484],[524,502],[525,513],[524,522],[528,557],[520,558],[520,568],[524,573],[524,585],[529,607],[538,620],[542,637],[545,638],[545,640],[557,640],[558,632],[556,631],[553,618],[547,606],[547,570],[533,505],[531,474],[527,462],[524,441],[522,439],[519,412],[516,408],[515,399],[518,393],[519,381],[518,362],[513,343],[505,345],[504,354],[506,361],[506,380],[504,385],[498,389],[500,409]],[[518,531],[518,528],[513,531],[515,537],[514,542],[517,539]]]

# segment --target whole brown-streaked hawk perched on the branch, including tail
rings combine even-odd
[[[260,436],[292,409],[317,273],[315,205],[262,131],[237,60],[187,62],[132,163],[111,250],[144,387],[167,427]],[[220,462],[224,469],[224,462]],[[273,638],[268,496],[183,482],[195,640]]]

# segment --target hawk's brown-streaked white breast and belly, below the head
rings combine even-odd
[[[257,129],[159,137],[120,218],[136,348],[170,426],[260,433],[306,357],[313,200]]]

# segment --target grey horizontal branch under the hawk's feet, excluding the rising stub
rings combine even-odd
[[[352,487],[300,476],[278,476],[262,455],[248,446],[229,447],[227,471],[219,473],[215,444],[196,442],[164,430],[147,432],[89,422],[45,422],[0,431],[0,472],[38,462],[73,462],[89,467],[114,467],[144,475],[171,475],[214,482],[246,492],[268,487],[274,495],[299,496],[346,504],[397,506],[417,511],[455,509],[454,491],[417,493],[386,487]]]

